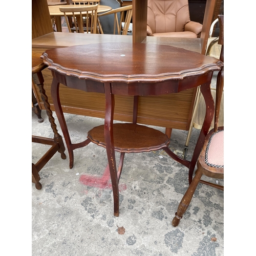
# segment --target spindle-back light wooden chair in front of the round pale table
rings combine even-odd
[[[80,6],[70,5],[69,7],[60,7],[59,10],[63,12],[65,16],[70,33],[72,32],[68,19],[70,13],[72,13],[76,33],[97,33],[98,4]]]

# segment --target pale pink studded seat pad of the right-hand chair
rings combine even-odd
[[[224,131],[211,135],[205,151],[205,162],[209,166],[224,168]]]

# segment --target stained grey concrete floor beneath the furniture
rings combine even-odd
[[[53,138],[45,111],[42,117],[45,121],[38,123],[32,112],[32,134]],[[73,143],[86,138],[93,126],[103,124],[98,118],[65,117]],[[185,131],[173,130],[169,146],[177,154],[183,151],[186,135]],[[198,135],[194,129],[188,160]],[[32,162],[47,149],[46,145],[32,143]],[[188,187],[188,169],[161,150],[125,155],[119,217],[113,215],[105,149],[90,143],[75,150],[72,169],[67,150],[65,153],[67,159],[56,153],[39,172],[41,190],[32,183],[33,256],[224,255],[223,191],[199,184],[179,226],[173,227],[172,219]],[[124,234],[118,233],[118,227],[125,228]]]

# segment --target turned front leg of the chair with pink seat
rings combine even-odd
[[[187,207],[190,204],[190,201],[191,201],[191,199],[192,199],[192,197],[195,193],[195,190],[197,188],[197,185],[198,185],[201,177],[202,177],[202,173],[199,170],[197,170],[194,179],[192,180],[191,184],[189,185],[185,195],[183,196],[183,198],[182,198],[182,200],[179,204],[178,210],[175,213],[175,217],[174,217],[173,222],[172,222],[174,227],[179,225],[183,214],[186,212]]]

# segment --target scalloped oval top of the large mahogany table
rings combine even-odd
[[[52,49],[43,56],[50,70],[62,74],[72,74],[79,79],[125,83],[182,80],[202,72],[219,70],[222,63],[181,48],[118,42]]]

